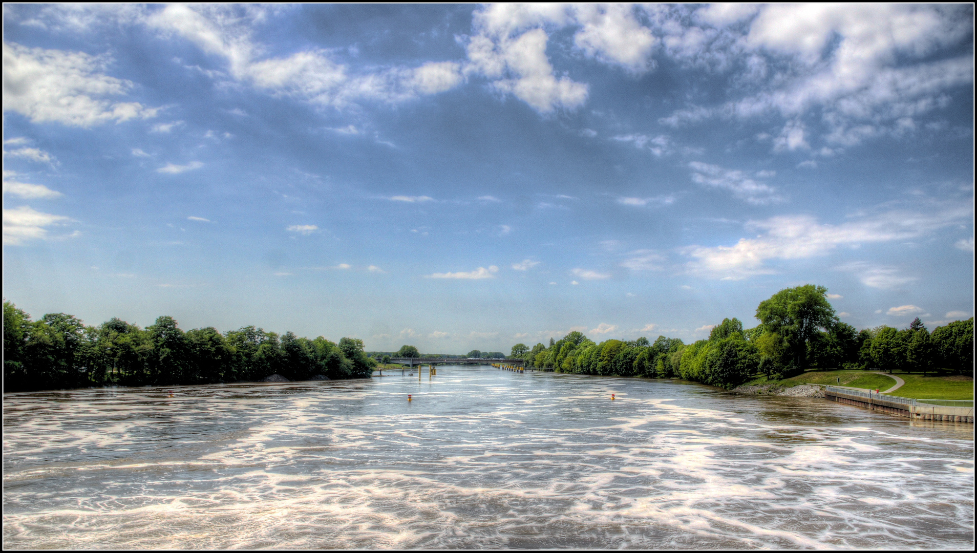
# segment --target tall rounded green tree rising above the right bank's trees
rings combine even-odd
[[[790,362],[799,370],[808,366],[808,341],[837,321],[828,303],[828,288],[814,284],[785,288],[760,302],[756,319],[768,331],[784,337]]]

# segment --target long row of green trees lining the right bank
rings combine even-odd
[[[574,331],[550,338],[549,346],[516,344],[510,358],[560,372],[675,377],[727,389],[759,374],[786,378],[817,368],[973,371],[973,318],[932,333],[918,318],[902,330],[856,330],[838,320],[826,287],[806,284],[760,302],[756,319],[760,323],[746,329],[739,319],[723,319],[707,339],[692,344],[664,336],[654,343],[638,338],[598,344]]]

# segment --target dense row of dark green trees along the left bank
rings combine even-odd
[[[3,304],[5,392],[209,384],[272,374],[289,380],[364,378],[375,364],[355,338],[336,344],[254,326],[223,334],[212,326],[184,331],[172,317],[146,328],[114,318],[87,326],[64,313],[31,320],[13,303]]]

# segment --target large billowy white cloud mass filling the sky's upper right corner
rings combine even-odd
[[[701,28],[674,16],[668,18],[673,26],[682,27],[677,32],[683,36],[707,40],[684,53],[666,50],[690,60],[746,60],[738,78],[763,92],[723,106],[680,109],[662,122],[678,126],[713,116],[750,118],[779,113],[787,124],[775,149],[806,149],[806,132],[799,117],[820,109],[828,124],[824,139],[855,145],[882,134],[901,136],[914,126],[914,116],[945,105],[945,91],[973,82],[971,55],[929,58],[972,33],[972,15],[963,7],[752,6],[750,10],[757,15],[743,30],[719,22],[729,21],[724,17],[707,15],[713,9],[716,14],[721,11],[710,7],[697,12]],[[745,13],[740,14],[743,19],[752,17]],[[728,40],[722,40],[724,36]],[[669,38],[664,41],[668,44]]]

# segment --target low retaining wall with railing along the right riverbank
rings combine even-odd
[[[839,404],[857,405],[919,420],[974,421],[974,403],[968,400],[913,400],[840,386],[826,386],[825,398]]]

